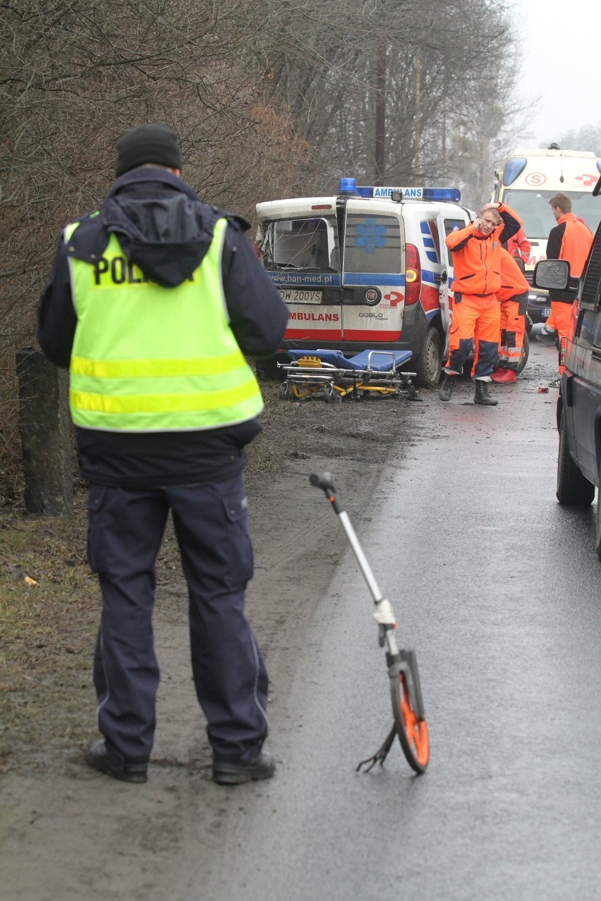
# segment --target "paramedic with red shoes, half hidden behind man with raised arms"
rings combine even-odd
[[[501,340],[498,363],[490,377],[497,385],[511,385],[522,357],[529,285],[515,259],[501,250],[501,287],[496,296],[501,302]]]

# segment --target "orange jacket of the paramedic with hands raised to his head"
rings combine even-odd
[[[486,238],[473,223],[447,235],[446,245],[453,255],[451,290],[456,294],[485,297],[501,287],[501,245],[518,231],[522,220],[505,204],[498,206],[497,213],[503,222]]]

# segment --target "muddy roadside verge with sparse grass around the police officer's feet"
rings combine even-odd
[[[541,383],[550,373],[533,357],[522,378]],[[247,614],[268,665],[269,709],[278,723],[294,678],[296,644],[346,546],[309,475],[332,472],[360,534],[393,447],[408,451],[416,436],[427,436],[428,409],[440,402],[435,392],[421,390],[419,401],[291,403],[278,398],[277,384],[261,388],[263,432],[250,445],[247,470],[255,549]],[[501,396],[502,389],[495,393]],[[460,379],[452,402],[471,404],[472,395],[469,380]],[[21,544],[14,542],[15,530],[21,530]],[[87,767],[84,749],[96,736],[91,663],[100,601],[85,562],[85,533],[81,505],[74,521],[62,525],[0,516],[0,540],[8,539],[0,550],[0,628],[9,638],[0,686],[3,898],[196,899],[201,895],[187,885],[187,864],[227,867],[220,857],[223,830],[240,805],[269,787],[236,792],[211,781],[190,673],[186,586],[170,530],[158,565],[161,684],[149,782],[123,786]],[[27,575],[37,585],[25,586]],[[23,626],[11,619],[11,602]],[[278,760],[275,730],[272,739]]]

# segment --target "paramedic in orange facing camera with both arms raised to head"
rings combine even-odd
[[[495,406],[488,382],[495,369],[501,314],[496,292],[501,287],[501,245],[517,232],[522,220],[505,204],[485,204],[473,223],[447,235],[454,292],[449,329],[449,359],[444,367],[441,400],[451,400],[453,379],[476,344],[474,404]]]

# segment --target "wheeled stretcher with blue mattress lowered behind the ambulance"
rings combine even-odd
[[[326,402],[342,397],[400,395],[406,392],[417,400],[411,384],[414,372],[401,372],[399,367],[411,359],[411,350],[362,350],[346,358],[341,350],[288,350],[290,363],[278,363],[286,373],[279,387],[282,399],[298,400],[323,394]]]

